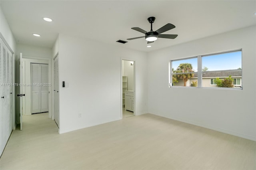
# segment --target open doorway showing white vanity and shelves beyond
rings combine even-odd
[[[134,116],[134,61],[122,60],[122,118]]]

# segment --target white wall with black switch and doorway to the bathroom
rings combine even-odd
[[[63,34],[58,41],[60,133],[121,119],[122,58],[136,61],[136,114],[147,113],[145,52]]]

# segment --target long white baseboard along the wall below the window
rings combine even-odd
[[[199,126],[199,127],[204,127],[204,128],[208,128],[208,129],[211,129],[211,130],[216,130],[218,132],[223,132],[223,133],[226,133],[226,134],[231,134],[231,135],[238,136],[238,137],[241,137],[241,138],[256,141],[256,136],[250,136],[250,135],[247,135],[247,134],[242,134],[242,133],[234,132],[234,131],[231,131],[231,130],[226,130],[226,129],[223,129],[223,128],[204,125],[202,123],[198,123],[198,122],[194,122],[194,121],[182,120],[182,119],[178,119],[178,118],[175,118],[175,117],[171,117],[169,115],[159,115],[159,114],[156,114],[156,113],[150,113],[150,114],[157,115],[157,116],[160,116],[160,117],[165,117],[165,118],[168,118],[168,119],[173,119],[175,121],[180,121],[180,122],[188,123],[188,124],[191,124],[191,125],[196,125],[196,126]]]

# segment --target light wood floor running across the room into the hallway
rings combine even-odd
[[[256,142],[156,115],[58,134],[48,113],[24,117],[1,170],[255,170]]]

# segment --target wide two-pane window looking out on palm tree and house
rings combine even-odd
[[[242,89],[242,50],[171,60],[170,66],[170,87]]]

